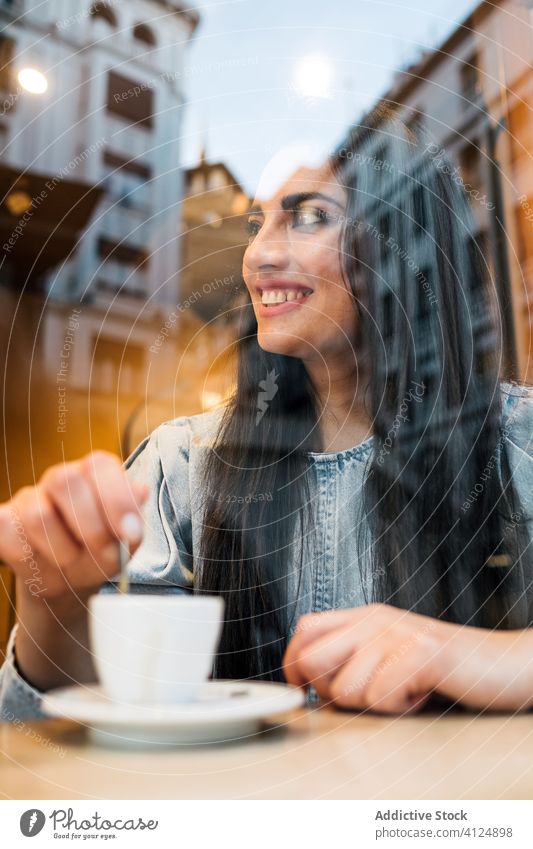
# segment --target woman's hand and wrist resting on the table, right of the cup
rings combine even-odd
[[[473,708],[533,705],[533,631],[454,625],[385,604],[303,616],[287,681],[339,707],[419,710],[432,692]]]

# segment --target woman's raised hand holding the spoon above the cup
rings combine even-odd
[[[117,539],[138,547],[147,494],[107,451],[51,466],[18,490],[0,504],[0,560],[15,572],[17,595],[61,604],[96,592],[119,571]]]

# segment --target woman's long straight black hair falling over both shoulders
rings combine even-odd
[[[465,191],[435,150],[381,111],[331,157],[348,197],[354,346],[372,363],[361,578],[369,601],[525,627],[531,552],[501,430],[497,311]],[[196,587],[226,601],[215,675],[276,680],[315,531],[318,398],[301,360],[259,346],[249,298],[236,344],[235,393],[203,470]]]

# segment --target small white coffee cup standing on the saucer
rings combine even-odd
[[[192,701],[212,671],[223,612],[219,596],[91,596],[89,636],[105,693],[121,703]]]

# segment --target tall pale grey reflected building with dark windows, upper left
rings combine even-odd
[[[3,164],[83,181],[103,199],[71,257],[42,280],[52,298],[148,313],[178,291],[186,46],[198,24],[175,0],[1,2]],[[22,67],[48,89],[17,84]],[[50,204],[53,198],[50,198]]]

